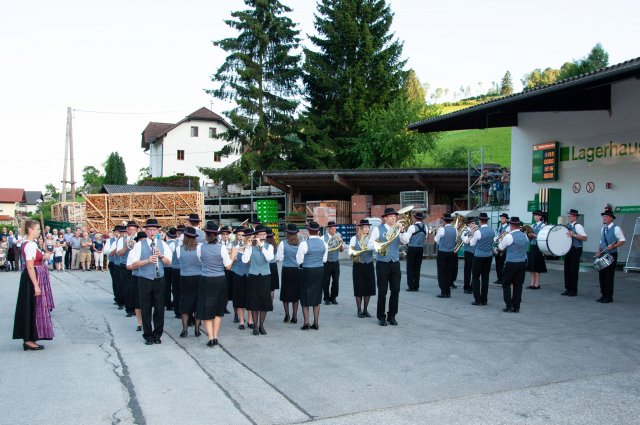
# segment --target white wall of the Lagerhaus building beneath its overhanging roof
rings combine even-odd
[[[562,189],[562,211],[576,208],[584,213],[589,240],[585,251],[596,251],[602,224],[600,213],[609,202],[614,206],[640,205],[640,80],[627,80],[612,86],[612,108],[608,111],[523,113],[511,138],[511,215],[529,222],[527,201],[542,187]],[[561,161],[558,180],[531,181],[533,146],[558,141],[569,148],[569,160]],[[610,144],[630,144],[622,155],[610,154]],[[597,147],[602,147],[596,150]],[[589,149],[592,148],[592,149]],[[606,148],[606,150],[605,150]],[[581,149],[584,149],[581,151]],[[584,159],[579,159],[580,154]],[[632,154],[629,154],[632,153]],[[597,157],[599,154],[599,158]],[[573,192],[574,183],[581,189]],[[588,193],[586,185],[595,190]],[[605,184],[611,183],[611,189]],[[630,241],[631,235],[625,235]]]

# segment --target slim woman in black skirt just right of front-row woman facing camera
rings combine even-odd
[[[301,270],[296,263],[296,253],[300,241],[295,224],[287,224],[286,239],[281,241],[276,251],[276,261],[282,262],[282,282],[280,285],[280,301],[284,306],[284,322],[298,323],[298,301],[300,300]],[[291,303],[291,315],[289,315]]]

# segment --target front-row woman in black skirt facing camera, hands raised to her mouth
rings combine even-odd
[[[264,322],[267,318],[267,312],[273,311],[269,262],[273,260],[275,254],[273,245],[266,242],[266,226],[257,226],[253,235],[251,244],[245,248],[242,255],[242,262],[249,264],[247,309],[251,310],[253,315],[253,334],[266,335]]]

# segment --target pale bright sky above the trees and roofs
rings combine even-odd
[[[281,0],[301,36],[315,33],[316,2]],[[535,68],[559,68],[596,43],[615,64],[640,56],[640,2],[633,0],[388,0],[407,69],[430,90],[473,94],[509,70],[516,90]],[[0,187],[60,187],[67,107],[74,109],[75,180],[111,152],[129,183],[149,165],[140,146],[149,121],[178,122],[212,99],[211,75],[225,54],[213,40],[235,36],[224,20],[241,0],[33,0],[0,14]],[[634,42],[636,40],[636,42]],[[308,41],[303,41],[308,47]],[[480,83],[480,84],[479,84]]]

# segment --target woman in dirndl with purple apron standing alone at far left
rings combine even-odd
[[[24,269],[20,275],[18,301],[13,323],[13,339],[22,339],[22,348],[43,350],[39,340],[53,339],[51,310],[54,308],[53,294],[49,282],[47,255],[38,249],[35,242],[40,235],[40,225],[34,220],[22,224],[20,255]]]

